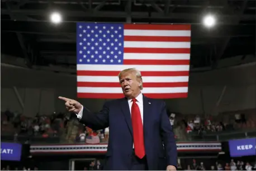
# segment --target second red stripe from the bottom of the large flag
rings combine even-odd
[[[77,87],[120,87],[117,83],[95,83],[95,82],[77,82]],[[143,83],[143,87],[188,87],[188,82],[177,83]]]

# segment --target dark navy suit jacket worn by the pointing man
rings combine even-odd
[[[126,98],[106,102],[97,114],[84,107],[80,122],[93,130],[109,127],[105,170],[130,170],[133,133]],[[164,101],[143,96],[143,131],[149,170],[166,170],[167,165],[176,166],[176,141]]]

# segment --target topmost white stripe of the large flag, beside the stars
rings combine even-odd
[[[191,36],[190,30],[124,30],[125,36]]]

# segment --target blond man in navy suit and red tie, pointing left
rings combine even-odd
[[[93,130],[109,127],[105,170],[176,170],[176,141],[164,101],[141,93],[143,80],[135,68],[118,77],[125,98],[106,102],[97,114],[73,99],[59,98],[82,124]]]

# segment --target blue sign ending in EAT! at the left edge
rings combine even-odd
[[[1,160],[20,161],[22,145],[1,142]]]

